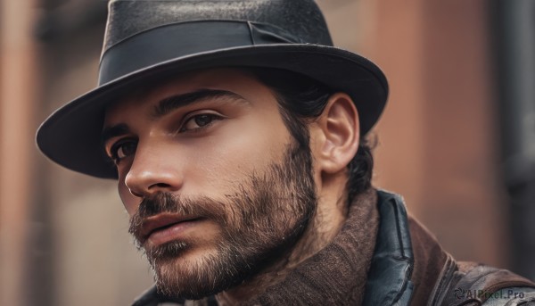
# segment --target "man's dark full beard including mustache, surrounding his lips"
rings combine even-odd
[[[303,236],[317,207],[309,147],[289,145],[281,162],[245,176],[223,201],[158,193],[144,198],[129,232],[151,264],[161,294],[198,300],[218,294],[283,261]],[[181,257],[198,242],[187,238],[146,244],[143,221],[162,212],[198,216],[220,229],[210,252]]]

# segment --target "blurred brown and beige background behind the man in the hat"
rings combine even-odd
[[[152,283],[112,181],[37,153],[95,86],[106,3],[0,0],[0,304],[128,305]],[[459,260],[535,278],[535,1],[318,0],[384,70],[375,185]]]

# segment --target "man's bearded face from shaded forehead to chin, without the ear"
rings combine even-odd
[[[274,95],[240,70],[205,70],[106,112],[130,232],[166,294],[200,298],[284,255],[316,209],[309,148]]]

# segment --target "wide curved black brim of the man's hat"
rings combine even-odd
[[[177,57],[96,87],[54,112],[37,130],[37,145],[62,166],[97,178],[117,178],[101,143],[106,105],[147,79],[215,67],[290,70],[351,96],[365,135],[379,119],[388,95],[383,72],[366,58],[325,45],[253,45]]]

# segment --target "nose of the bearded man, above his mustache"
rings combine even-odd
[[[138,144],[124,181],[130,194],[145,197],[180,189],[183,179],[178,158],[169,147]]]

